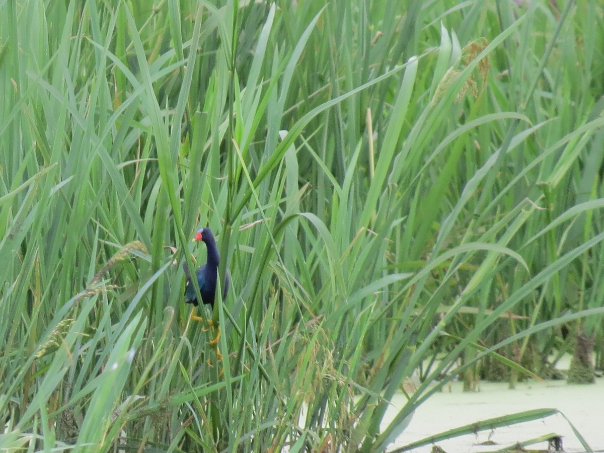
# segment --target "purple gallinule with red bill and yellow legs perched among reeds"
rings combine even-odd
[[[195,271],[195,277],[197,278],[197,283],[199,285],[199,292],[201,293],[201,300],[204,304],[207,304],[214,309],[214,300],[216,299],[216,283],[218,281],[218,265],[220,263],[220,254],[218,252],[218,248],[216,247],[216,238],[212,233],[210,228],[201,228],[197,230],[193,240],[199,242],[205,242],[205,247],[208,252],[208,259],[205,265],[201,266],[201,268]],[[193,280],[191,279],[191,272],[188,268],[187,263],[185,262],[182,266],[185,271],[185,277],[187,277],[187,283],[185,283],[185,294],[184,299],[185,303],[193,304],[195,307],[199,305],[199,301],[197,300],[197,294],[195,292],[195,288],[193,286]],[[228,293],[229,286],[231,285],[231,275],[229,271],[226,271],[226,277],[224,284],[222,285],[222,299],[226,298],[226,294]],[[194,315],[194,308],[191,312],[191,319],[196,321],[202,321],[204,318]],[[210,327],[214,326],[212,320],[207,320]],[[210,341],[210,344],[217,344],[220,339],[220,327],[218,328],[218,333],[216,338]]]

